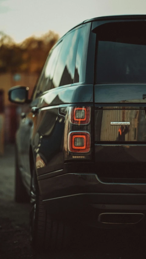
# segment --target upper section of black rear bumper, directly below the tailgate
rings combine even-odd
[[[110,202],[109,197],[116,197],[116,204],[130,204],[127,203],[128,197],[133,195],[133,202],[131,204],[146,204],[146,184],[127,184],[127,183],[103,183],[99,180],[96,174],[62,174],[52,178],[46,178],[38,181],[40,192],[43,200],[48,199],[60,199],[59,197],[74,197],[81,195],[92,195],[93,194],[98,198],[102,195],[105,195],[105,199],[99,202],[98,200],[95,203],[105,203],[105,204],[114,204],[113,200]],[[67,196],[66,196],[67,195]],[[109,196],[107,196],[109,195]],[[119,203],[121,197],[126,195],[125,202]],[[108,198],[107,198],[108,197]],[[135,200],[135,197],[141,197],[141,202],[138,203]],[[142,198],[143,197],[143,198]],[[87,199],[87,198],[86,198]],[[145,203],[143,200],[145,199]]]

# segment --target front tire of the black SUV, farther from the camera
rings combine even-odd
[[[29,202],[30,197],[26,191],[26,188],[23,184],[20,170],[18,167],[18,158],[17,158],[17,152],[15,154],[15,202]]]

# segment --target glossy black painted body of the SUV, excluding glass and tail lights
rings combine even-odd
[[[16,133],[19,168],[28,193],[34,165],[49,213],[92,225],[98,225],[98,216],[103,212],[146,211],[145,85],[95,85],[96,33],[92,29],[97,22],[110,19],[139,20],[146,16],[99,17],[81,23],[79,28],[87,26],[87,51],[82,61],[80,58],[79,77],[74,83],[45,92],[39,91],[38,81]],[[72,106],[91,107],[88,125],[70,123]],[[111,121],[130,121],[122,140],[119,127],[111,126]],[[67,141],[72,129],[90,131],[91,148],[86,159],[83,154],[77,159],[77,154],[69,153]],[[137,168],[135,173],[131,168]]]

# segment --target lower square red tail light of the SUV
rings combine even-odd
[[[90,150],[89,132],[71,132],[69,134],[69,150],[71,152],[85,153]]]

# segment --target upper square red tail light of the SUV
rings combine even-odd
[[[90,107],[72,107],[70,120],[73,124],[88,124],[90,122]]]

